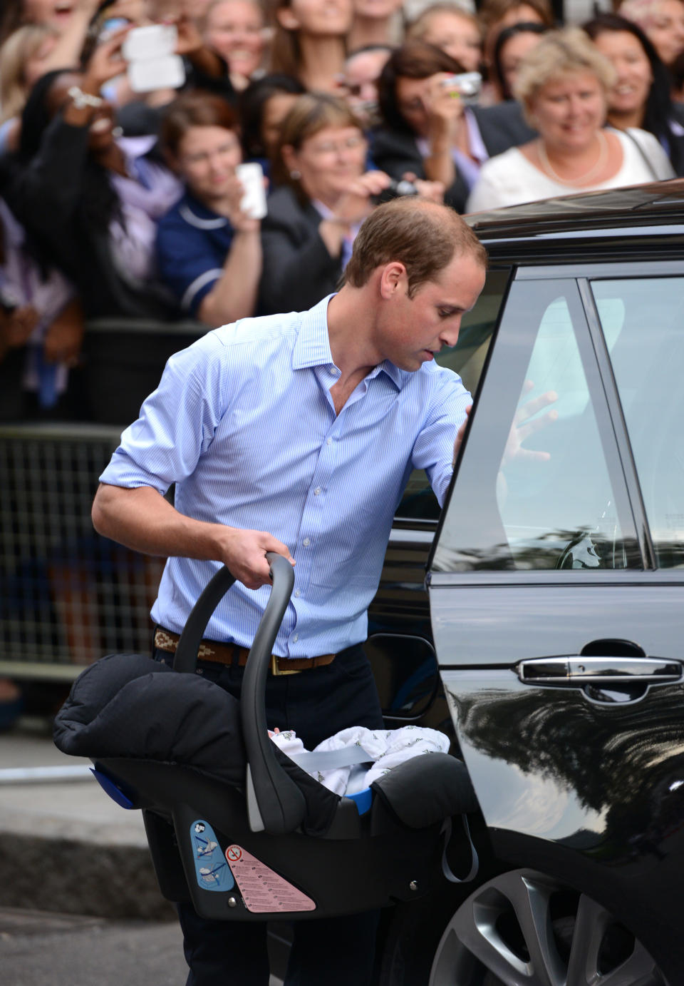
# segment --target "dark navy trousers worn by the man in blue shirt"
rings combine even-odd
[[[170,655],[155,651],[170,663]],[[236,698],[243,669],[198,661],[198,670]],[[349,726],[379,729],[382,712],[370,664],[359,646],[331,665],[300,674],[270,674],[266,685],[269,729],[294,730],[307,749]],[[265,922],[212,921],[179,904],[186,986],[268,986]],[[378,911],[342,918],[294,921],[285,986],[369,986]]]

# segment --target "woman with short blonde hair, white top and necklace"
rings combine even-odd
[[[539,136],[482,166],[467,211],[673,177],[653,134],[603,129],[614,74],[580,29],[544,35],[516,85]]]

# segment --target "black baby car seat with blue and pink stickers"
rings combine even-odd
[[[424,753],[339,797],[269,738],[266,678],[294,576],[280,555],[268,557],[273,589],[239,703],[195,673],[207,622],[234,581],[221,568],[190,613],[173,669],[142,655],[102,658],[58,713],[57,746],[89,756],[107,794],[143,810],[161,893],[203,917],[332,917],[418,898],[443,873],[455,880],[445,829],[477,810],[464,763]],[[476,869],[470,847],[466,879]]]

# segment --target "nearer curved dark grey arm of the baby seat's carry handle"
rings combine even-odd
[[[247,810],[252,831],[293,832],[303,818],[304,796],[280,766],[276,746],[266,721],[266,679],[274,643],[294,585],[294,569],[274,551],[271,564],[273,589],[247,658],[240,713],[247,749]]]

